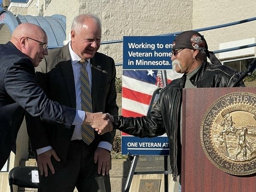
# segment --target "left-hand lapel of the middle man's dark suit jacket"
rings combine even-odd
[[[76,108],[75,80],[68,45],[64,46],[62,50],[63,55],[65,55],[66,58],[63,58],[63,61],[59,63],[60,69],[63,74],[64,81],[66,83],[67,92],[70,97],[71,107]]]

